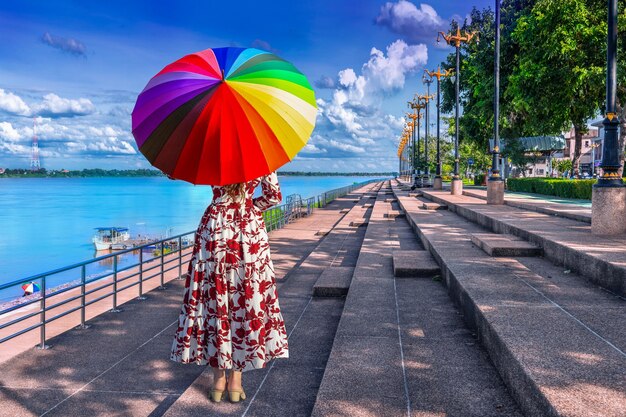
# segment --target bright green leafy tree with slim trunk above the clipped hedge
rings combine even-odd
[[[578,174],[587,120],[603,102],[606,24],[589,0],[539,0],[511,37],[519,45],[505,96],[523,114],[524,131],[557,134],[574,127]],[[606,19],[605,19],[606,21]]]

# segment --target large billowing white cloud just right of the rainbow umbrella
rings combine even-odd
[[[420,71],[427,58],[425,45],[397,40],[385,52],[372,48],[360,71],[353,68],[339,71],[337,88],[331,98],[317,100],[317,126],[309,144],[327,151],[320,156],[350,158],[350,163],[354,158],[369,158],[370,163],[387,161],[388,154],[395,151],[393,141],[404,120],[383,112],[381,103],[385,97],[401,91],[407,77]],[[304,153],[315,152],[305,149]],[[382,169],[378,162],[374,164]],[[395,169],[395,164],[385,164],[385,169]],[[364,163],[359,169],[371,167]]]

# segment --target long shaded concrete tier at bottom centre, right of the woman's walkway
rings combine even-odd
[[[519,417],[443,286],[394,279],[392,253],[421,247],[388,208],[372,211],[311,416]]]

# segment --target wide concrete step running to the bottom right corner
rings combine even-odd
[[[524,414],[626,415],[623,298],[544,258],[490,257],[471,243],[484,233],[478,224],[398,195]]]

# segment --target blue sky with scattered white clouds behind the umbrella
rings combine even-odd
[[[163,66],[211,47],[254,46],[291,61],[320,108],[284,167],[397,167],[406,100],[450,49],[437,30],[492,0],[19,1],[0,5],[0,167],[147,168],[130,130],[138,93]],[[434,113],[434,110],[433,110]]]

